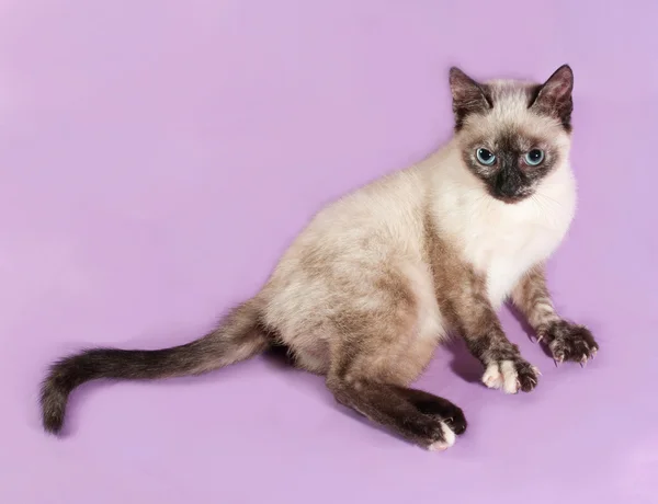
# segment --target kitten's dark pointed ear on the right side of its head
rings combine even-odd
[[[559,119],[565,129],[570,131],[574,111],[572,91],[574,71],[568,65],[563,65],[544,84],[537,87],[530,108]]]

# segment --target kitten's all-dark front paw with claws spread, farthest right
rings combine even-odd
[[[556,364],[571,360],[585,365],[594,358],[599,345],[585,325],[566,320],[553,322],[537,332],[537,339],[545,341]]]

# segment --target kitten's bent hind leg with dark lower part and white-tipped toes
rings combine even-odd
[[[431,450],[443,450],[466,429],[462,410],[446,399],[409,388],[435,344],[418,337],[415,310],[350,313],[333,341],[327,386],[337,401]]]

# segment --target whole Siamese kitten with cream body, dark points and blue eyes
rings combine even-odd
[[[42,388],[45,429],[60,432],[68,396],[86,381],[197,375],[283,345],[297,366],[326,376],[339,403],[443,450],[466,429],[464,414],[410,383],[449,332],[479,359],[487,387],[537,385],[538,369],[496,314],[508,298],[556,363],[586,363],[599,346],[556,313],[542,266],[576,206],[572,84],[566,65],[543,84],[479,83],[452,68],[447,145],[319,211],[262,289],[200,340],[56,363]]]

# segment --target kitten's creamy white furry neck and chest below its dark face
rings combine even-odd
[[[418,165],[430,187],[430,218],[442,239],[485,270],[498,256],[547,259],[574,218],[576,184],[568,160],[540,183],[533,196],[514,204],[494,198],[462,163],[453,140]]]

